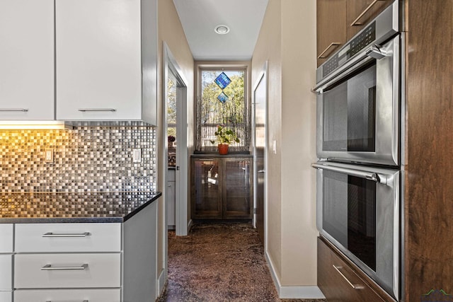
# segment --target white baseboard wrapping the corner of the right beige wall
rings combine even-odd
[[[278,297],[282,299],[323,299],[326,298],[318,286],[282,286],[280,279],[275,274],[275,267],[269,257],[268,252],[265,252],[265,258],[268,262],[270,275],[277,289]]]

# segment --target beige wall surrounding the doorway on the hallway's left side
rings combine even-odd
[[[188,95],[188,153],[192,153],[193,150],[193,117],[195,116],[193,112],[193,57],[192,52],[190,52],[190,47],[187,40],[185,39],[185,34],[183,27],[179,21],[178,13],[176,8],[171,0],[159,0],[158,2],[159,9],[159,41],[158,41],[158,89],[157,89],[157,100],[158,100],[158,130],[157,130],[157,145],[159,149],[158,153],[158,174],[157,174],[157,190],[164,192],[165,185],[165,173],[166,173],[166,134],[164,134],[164,112],[163,112],[163,91],[164,91],[164,72],[163,72],[163,62],[164,62],[164,42],[166,42],[168,48],[170,49],[173,57],[178,62],[178,66],[182,72],[182,76],[185,78],[187,83],[187,95]],[[180,147],[180,146],[179,146]],[[164,230],[164,201],[165,196],[159,199],[159,253],[158,253],[158,262],[159,266],[157,267],[157,272],[160,274],[163,269],[162,265],[164,263],[164,248],[162,245],[165,244]]]

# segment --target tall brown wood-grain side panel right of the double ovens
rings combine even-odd
[[[453,294],[453,1],[406,2],[404,301]]]

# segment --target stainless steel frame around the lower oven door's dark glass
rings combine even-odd
[[[369,277],[371,277],[374,281],[382,286],[389,294],[394,296],[396,300],[399,298],[399,266],[400,266],[400,189],[401,189],[401,171],[399,170],[391,170],[391,169],[384,169],[384,168],[374,168],[374,167],[365,167],[365,166],[357,166],[357,165],[347,165],[342,163],[326,163],[326,162],[319,162],[312,165],[314,168],[318,169],[316,173],[316,227],[318,228],[319,233],[327,238],[328,240],[336,245],[336,247],[341,250],[346,256],[352,260],[360,269],[366,272]],[[338,168],[338,173],[345,173],[350,175],[355,175],[360,177],[360,173],[364,173],[364,175],[369,173],[376,173],[379,176],[379,179],[385,180],[378,182],[377,187],[377,194],[379,199],[384,198],[386,195],[387,198],[391,198],[391,221],[378,221],[377,219],[377,245],[384,244],[384,238],[382,236],[385,233],[391,232],[391,250],[387,252],[386,255],[380,255],[382,259],[379,259],[377,256],[377,269],[376,272],[372,271],[367,265],[363,264],[355,255],[352,254],[347,248],[345,248],[342,244],[340,244],[335,238],[333,238],[329,233],[323,230],[322,225],[322,213],[323,213],[323,170],[334,170]],[[360,173],[357,173],[360,171]],[[366,178],[366,176],[364,177]],[[388,188],[385,188],[388,187]],[[382,196],[384,195],[384,197]],[[377,204],[379,207],[379,204]],[[382,212],[383,210],[379,210],[381,216],[384,219],[388,219],[389,213]],[[390,222],[390,223],[389,223]],[[390,224],[391,226],[387,226],[386,224]],[[379,228],[384,228],[384,231],[378,231]],[[379,236],[379,238],[378,238]],[[389,257],[391,259],[391,264],[388,264]],[[383,262],[384,265],[383,265]],[[378,265],[382,265],[378,267]],[[389,280],[391,278],[391,280]]]

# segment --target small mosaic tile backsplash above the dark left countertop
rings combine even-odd
[[[0,178],[1,192],[156,191],[156,127],[1,130]]]

